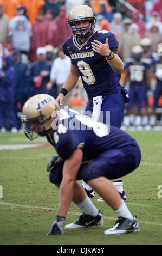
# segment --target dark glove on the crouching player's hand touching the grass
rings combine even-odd
[[[65,217],[59,215],[56,216],[56,220],[51,225],[51,229],[47,235],[64,235],[63,224],[65,222]]]

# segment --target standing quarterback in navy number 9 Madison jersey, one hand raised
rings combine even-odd
[[[62,105],[64,96],[81,77],[88,95],[85,115],[90,113],[98,121],[100,111],[103,111],[103,123],[106,123],[106,113],[109,111],[109,123],[120,127],[129,95],[120,85],[124,68],[122,60],[116,54],[119,42],[112,32],[94,31],[95,23],[94,11],[87,5],[76,6],[70,11],[68,24],[73,35],[62,47],[64,54],[71,60],[71,71],[56,100]],[[121,178],[114,181],[114,185],[126,199]],[[85,182],[83,187],[90,196],[91,188]],[[103,201],[102,198],[98,200]]]

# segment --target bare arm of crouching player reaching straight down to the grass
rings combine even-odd
[[[73,199],[74,184],[78,170],[81,166],[83,153],[76,149],[73,154],[64,162],[62,181],[60,184],[60,202],[58,215],[66,217],[70,203]]]

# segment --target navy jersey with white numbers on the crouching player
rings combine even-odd
[[[52,127],[53,142],[48,136],[47,139],[53,143],[57,154],[64,160],[68,159],[77,148],[82,149],[83,161],[85,161],[109,149],[129,151],[129,145],[137,146],[137,142],[119,128],[108,127],[71,110],[61,109],[59,121],[55,125],[53,121]]]

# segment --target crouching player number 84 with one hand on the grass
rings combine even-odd
[[[49,179],[60,188],[60,203],[48,235],[64,235],[63,224],[70,203],[75,202],[83,214],[66,229],[103,225],[102,214],[95,208],[76,180],[85,180],[118,217],[113,228],[104,234],[124,234],[139,230],[137,218],[128,210],[111,182],[135,170],[141,159],[138,143],[124,131],[107,126],[86,115],[60,109],[56,100],[38,94],[25,102],[22,120],[29,139],[46,136],[57,158],[48,164]],[[76,196],[77,194],[77,196]]]

